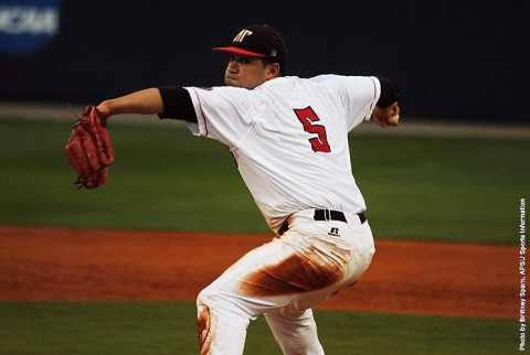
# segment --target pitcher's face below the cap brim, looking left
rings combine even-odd
[[[268,66],[259,58],[233,54],[224,73],[224,83],[253,89],[272,78]]]

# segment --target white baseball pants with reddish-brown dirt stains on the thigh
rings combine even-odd
[[[264,314],[288,355],[320,355],[311,308],[354,284],[375,251],[358,215],[314,220],[314,209],[289,217],[289,229],[224,271],[198,297],[201,355],[243,354],[246,329]]]

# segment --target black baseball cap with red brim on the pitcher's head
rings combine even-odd
[[[237,33],[229,46],[212,49],[247,56],[268,57],[278,62],[282,68],[287,65],[287,46],[278,31],[267,24],[251,25]]]

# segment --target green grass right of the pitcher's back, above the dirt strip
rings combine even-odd
[[[384,238],[517,243],[530,192],[528,140],[358,137],[351,149],[374,234]]]

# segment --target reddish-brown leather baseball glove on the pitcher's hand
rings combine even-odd
[[[107,119],[96,107],[87,106],[75,122],[65,147],[66,157],[78,173],[74,184],[80,189],[96,189],[107,181],[108,166],[114,161]]]

